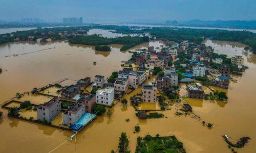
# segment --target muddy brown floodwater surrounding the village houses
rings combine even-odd
[[[155,42],[156,43],[156,42]],[[150,45],[155,43],[151,42]],[[121,132],[126,132],[130,140],[129,149],[135,151],[138,136],[148,133],[155,136],[175,135],[182,141],[187,152],[229,152],[222,135],[228,135],[232,141],[243,136],[252,140],[239,152],[255,152],[256,150],[256,57],[242,52],[244,46],[238,43],[206,41],[207,45],[221,49],[233,56],[242,55],[244,65],[248,66],[242,77],[234,77],[237,83],[230,83],[228,101],[187,99],[193,106],[195,114],[201,120],[190,116],[176,116],[176,106],[172,110],[162,112],[167,118],[139,120],[130,105],[123,107],[118,103],[112,108],[113,115],[98,117],[86,126],[74,140],[67,141],[73,133],[54,129],[36,123],[21,121],[7,117],[7,111],[0,119],[0,152],[110,152],[116,150]],[[143,48],[148,43],[136,46]],[[35,50],[54,47],[44,52],[27,54],[18,57],[4,56],[33,52]],[[38,45],[34,43],[7,43],[0,46],[0,102],[12,98],[16,92],[31,91],[33,87],[45,86],[63,78],[80,79],[94,77],[95,74],[109,76],[112,71],[120,69],[121,61],[131,57],[128,52],[120,52],[121,45],[112,45],[111,52],[95,52],[94,47],[85,45],[69,45],[66,42],[53,42]],[[237,51],[235,52],[234,50]],[[220,52],[217,51],[216,52]],[[94,66],[93,62],[97,62]],[[153,81],[153,80],[151,80]],[[149,81],[147,81],[149,82]],[[129,99],[140,89],[126,94]],[[40,98],[42,99],[42,98]],[[33,112],[32,112],[33,113]],[[126,122],[125,119],[130,121]],[[214,123],[209,130],[202,126]],[[140,125],[141,131],[134,134],[134,126]]]

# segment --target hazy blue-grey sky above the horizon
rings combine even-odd
[[[46,21],[82,16],[86,21],[252,20],[256,0],[0,0],[0,20]]]

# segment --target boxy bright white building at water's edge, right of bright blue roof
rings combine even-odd
[[[114,88],[106,87],[104,89],[98,89],[96,93],[96,104],[112,106],[114,96]]]

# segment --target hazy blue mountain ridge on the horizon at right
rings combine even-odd
[[[214,27],[235,29],[256,29],[256,20],[189,20],[180,21],[178,25],[191,27]]]

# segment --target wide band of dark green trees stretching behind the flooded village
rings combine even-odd
[[[256,54],[256,34],[248,31],[228,31],[228,30],[207,30],[207,29],[189,29],[189,28],[139,28],[118,25],[92,25],[91,27],[57,27],[57,28],[38,28],[28,31],[17,31],[10,34],[0,35],[0,44],[15,41],[27,41],[28,36],[33,36],[33,41],[37,38],[51,38],[52,40],[69,40],[73,44],[87,45],[109,45],[122,44],[120,50],[127,50],[143,42],[148,42],[149,37],[118,37],[104,38],[97,35],[86,36],[90,29],[111,30],[114,33],[122,34],[145,34],[157,39],[181,42],[188,40],[196,44],[201,44],[205,39],[235,41],[247,44],[246,49],[252,50]]]

